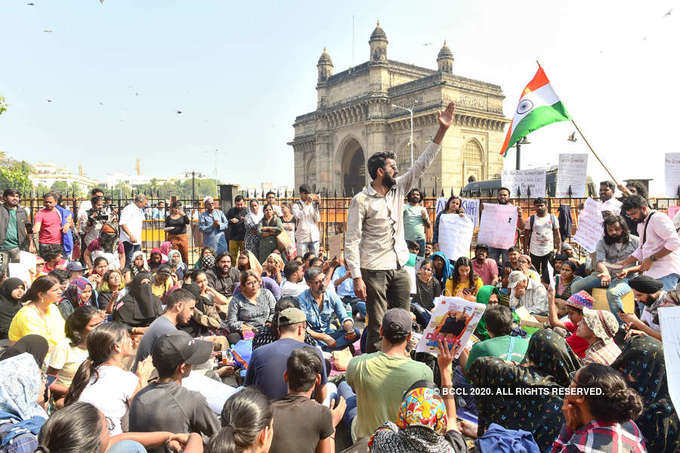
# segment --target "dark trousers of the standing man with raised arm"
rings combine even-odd
[[[380,325],[389,308],[409,310],[411,282],[406,269],[375,271],[361,269],[366,284],[366,352],[380,350]]]

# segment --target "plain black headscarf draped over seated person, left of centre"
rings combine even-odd
[[[113,319],[130,327],[146,327],[163,313],[161,300],[151,291],[151,283],[142,284],[142,280],[152,281],[150,272],[140,272],[132,279],[128,293],[123,297],[113,313]]]

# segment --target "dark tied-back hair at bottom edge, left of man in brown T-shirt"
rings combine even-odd
[[[253,387],[235,393],[222,408],[222,429],[210,440],[208,451],[240,453],[251,447],[264,428],[271,425],[269,398]]]

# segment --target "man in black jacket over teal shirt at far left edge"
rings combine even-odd
[[[21,194],[16,189],[5,189],[0,205],[0,252],[12,262],[19,262],[19,251],[35,252],[31,241],[31,221],[19,206]]]

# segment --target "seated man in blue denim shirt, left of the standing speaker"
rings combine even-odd
[[[354,327],[342,300],[335,292],[326,291],[326,276],[321,268],[307,269],[305,281],[309,289],[298,296],[300,309],[305,312],[310,334],[321,348],[326,351],[344,349],[358,340],[359,330]],[[332,327],[333,314],[342,324],[342,329],[334,330]]]

